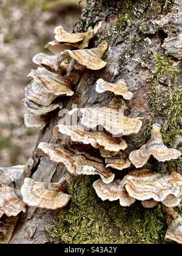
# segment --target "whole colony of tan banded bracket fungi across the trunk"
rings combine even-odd
[[[31,71],[30,84],[25,88],[24,105],[29,111],[29,114],[25,114],[27,127],[44,126],[47,113],[63,107],[64,98],[61,97],[73,96],[73,85],[77,84],[81,70],[99,70],[106,66],[103,54],[107,43],[89,49],[89,40],[97,30],[70,34],[58,26],[55,28],[55,40],[45,46],[53,55],[40,53],[33,57],[33,62],[39,67]],[[133,96],[122,79],[113,84],[100,78],[96,81],[95,90],[97,93],[110,91],[121,96],[122,101],[130,100]],[[120,175],[123,169],[131,168],[132,165],[141,168],[150,156],[159,162],[180,157],[181,152],[164,145],[159,124],[153,124],[150,140],[140,149],[130,152],[127,159],[123,154],[127,148],[127,138],[123,136],[140,132],[143,124],[141,117],[124,116],[121,104],[112,102],[105,107],[73,108],[69,115],[78,118],[78,112],[81,113],[79,126],[58,124],[53,129],[53,137],[66,135],[72,144],[67,146],[41,142],[38,146],[40,157],[47,156],[53,162],[64,165],[71,176],[100,176],[101,179],[93,183],[93,188],[102,200],[119,199],[120,205],[124,207],[136,200],[141,201],[146,208],[155,207],[160,202],[169,208],[180,204],[182,176],[177,172],[165,176],[143,168],[129,172],[123,179],[115,179],[116,170]],[[92,154],[91,147],[98,157]],[[0,217],[4,213],[15,216],[24,212],[25,205],[55,210],[69,202],[69,194],[64,193],[70,184],[69,174],[58,183],[38,182],[26,177],[19,191],[10,186],[21,175],[20,169],[12,172],[0,168]],[[172,216],[169,210],[167,214]],[[169,230],[166,240],[181,243],[179,221],[181,219],[174,215],[167,222]]]

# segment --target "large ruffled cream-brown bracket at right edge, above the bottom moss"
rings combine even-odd
[[[163,176],[148,169],[132,171],[122,180],[129,196],[145,201],[153,199],[165,205],[165,199],[169,195],[177,198],[182,196],[182,176],[178,172]],[[168,203],[170,198],[168,198]],[[178,202],[179,203],[179,202]],[[171,201],[173,207],[177,202]]]

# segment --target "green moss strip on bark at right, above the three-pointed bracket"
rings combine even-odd
[[[163,142],[167,147],[172,147],[175,140],[181,133],[182,127],[182,85],[180,84],[181,70],[173,66],[173,60],[170,57],[154,54],[155,57],[155,75],[150,81],[149,102],[152,112],[152,120],[155,116],[160,116],[163,121]],[[163,85],[166,82],[166,86]],[[149,129],[146,127],[144,135],[148,135]],[[142,137],[146,139],[146,136]],[[146,142],[146,141],[145,141]],[[177,171],[177,160],[167,162],[169,171]]]

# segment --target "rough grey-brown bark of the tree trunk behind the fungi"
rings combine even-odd
[[[124,79],[133,92],[133,98],[126,101],[125,115],[144,118],[140,133],[126,137],[129,145],[126,156],[148,140],[152,123],[163,126],[167,146],[172,146],[180,135],[181,102],[177,97],[181,90],[178,86],[181,76],[177,72],[182,57],[180,49],[177,49],[181,30],[180,2],[90,0],[76,25],[75,30],[84,32],[88,27],[102,22],[101,31],[90,40],[89,48],[106,41],[109,45],[104,55],[107,66],[100,71],[81,71],[75,94],[64,100],[64,107],[71,110],[72,104],[78,107],[106,106],[114,96],[109,92],[96,93],[96,80],[100,77],[110,82]],[[172,38],[178,38],[178,41]],[[115,98],[119,100],[121,97]],[[178,107],[171,108],[174,104]],[[177,119],[174,115],[177,115]],[[49,122],[40,132],[35,151],[27,163],[25,176],[55,182],[66,172],[64,167],[51,162],[48,157],[39,157],[37,149],[41,141],[56,143],[52,131],[58,121],[58,111],[50,113]],[[179,148],[178,143],[175,146]],[[164,173],[180,166],[178,162],[161,165],[155,160],[151,160],[150,164]],[[51,228],[59,212],[27,208],[27,212],[19,218],[11,243],[61,243],[45,232],[45,226]]]

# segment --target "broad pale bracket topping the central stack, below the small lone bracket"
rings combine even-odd
[[[140,131],[142,122],[140,118],[123,116],[123,110],[113,107],[74,108],[69,112],[72,115],[80,111],[83,117],[81,125],[87,129],[103,126],[112,135],[130,135]]]

